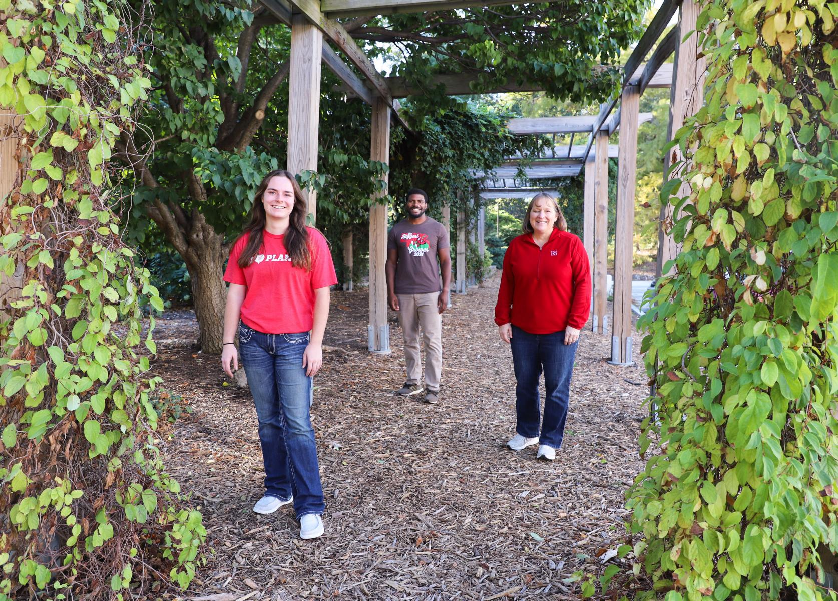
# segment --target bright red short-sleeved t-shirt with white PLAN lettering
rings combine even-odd
[[[262,247],[250,265],[239,267],[239,256],[249,235],[235,241],[224,281],[247,287],[241,303],[241,321],[266,334],[308,332],[314,325],[314,291],[338,283],[332,253],[319,231],[308,228],[312,269],[294,267],[284,236],[262,232]]]

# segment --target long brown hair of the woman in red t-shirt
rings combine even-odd
[[[242,234],[242,236],[244,234],[250,234],[250,236],[239,256],[239,267],[243,269],[250,265],[254,257],[262,250],[262,232],[265,231],[266,223],[265,205],[262,205],[262,197],[265,195],[267,184],[277,176],[288,179],[294,190],[294,208],[291,211],[288,230],[285,232],[283,239],[285,249],[288,256],[291,257],[292,265],[308,272],[312,268],[312,253],[308,246],[308,230],[306,229],[308,207],[306,199],[303,197],[303,190],[300,189],[300,184],[297,184],[297,179],[285,169],[274,169],[265,176],[265,179],[262,179],[259,188],[256,189],[256,196],[253,198],[253,208],[251,209],[251,220]]]

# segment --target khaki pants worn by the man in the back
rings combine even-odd
[[[405,337],[407,382],[418,384],[422,377],[419,356],[419,329],[425,345],[425,386],[439,390],[442,375],[442,315],[437,310],[439,293],[396,294],[399,299],[399,324]]]

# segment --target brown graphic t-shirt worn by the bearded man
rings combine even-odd
[[[399,251],[396,294],[428,294],[442,290],[437,250],[450,246],[448,232],[437,220],[427,217],[419,225],[409,220],[393,225],[387,236],[387,250]]]

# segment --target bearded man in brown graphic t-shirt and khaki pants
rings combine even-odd
[[[398,394],[422,393],[421,328],[425,343],[425,402],[436,403],[442,375],[442,312],[447,307],[451,286],[451,252],[447,230],[425,215],[426,211],[427,194],[417,188],[408,190],[407,219],[393,225],[387,237],[387,295],[390,308],[399,313],[405,338],[407,381]]]

